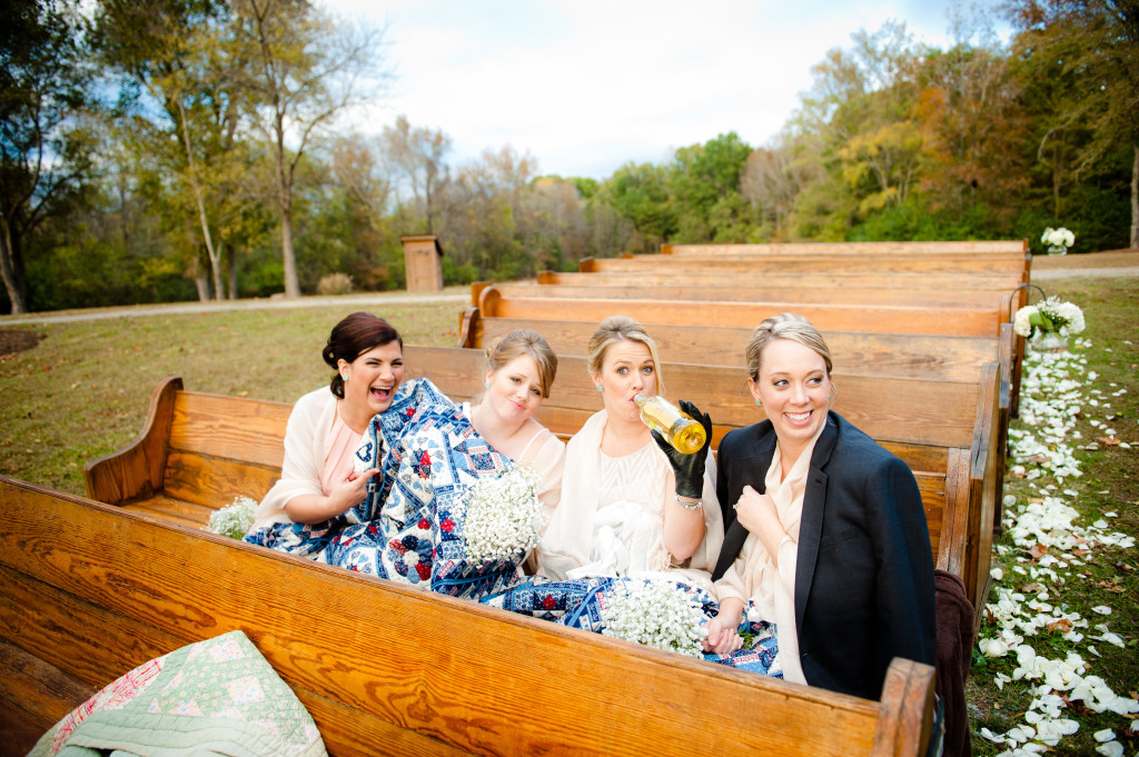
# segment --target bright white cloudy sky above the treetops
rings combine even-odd
[[[992,0],[980,0],[991,7]],[[950,44],[951,0],[325,0],[386,26],[396,116],[451,137],[452,165],[528,151],[541,173],[605,179],[735,131],[764,145],[811,87],[811,67],[859,28],[904,22]],[[975,11],[975,9],[974,9]],[[974,13],[970,11],[970,13]]]

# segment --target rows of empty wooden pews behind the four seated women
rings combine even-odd
[[[1024,349],[1010,315],[1025,302],[1030,262],[1023,241],[665,245],[661,255],[587,258],[538,283],[473,285],[459,345],[527,327],[581,357],[601,319],[631,315],[662,360],[718,377],[715,388],[670,393],[731,428],[759,419],[747,406],[747,336],[769,315],[805,315],[834,355],[835,409],[906,460],[927,516],[944,502],[945,517],[929,519],[936,563],[962,577],[978,623]],[[555,393],[574,381],[560,371]]]

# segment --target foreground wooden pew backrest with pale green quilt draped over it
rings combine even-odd
[[[141,663],[235,630],[289,684],[333,757],[916,757],[933,721],[928,666],[895,660],[882,701],[857,699],[421,593],[7,477],[0,612],[3,754],[26,752],[40,732]]]

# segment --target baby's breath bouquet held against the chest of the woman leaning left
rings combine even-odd
[[[468,560],[506,560],[534,548],[546,518],[540,488],[538,474],[523,466],[475,482],[467,491],[462,526]]]

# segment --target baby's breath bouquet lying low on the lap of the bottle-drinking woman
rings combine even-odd
[[[702,657],[707,635],[700,603],[680,587],[659,581],[618,581],[606,593],[601,633],[645,647]]]

